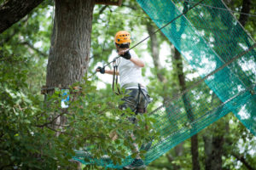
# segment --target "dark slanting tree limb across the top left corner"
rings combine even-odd
[[[0,6],[0,33],[13,26],[44,0],[9,0]]]

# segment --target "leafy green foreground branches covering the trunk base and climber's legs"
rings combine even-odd
[[[39,96],[24,94],[27,87],[24,57],[6,57],[1,61],[1,166],[3,169],[55,169],[66,167],[74,155],[73,150],[90,146],[90,154],[95,158],[109,155],[113,162],[121,161],[132,150],[133,131],[137,144],[147,141],[145,124],[152,124],[148,116],[138,116],[138,124],[127,120],[131,111],[120,111],[116,103],[122,96],[113,94],[102,96],[84,80],[77,83],[82,89],[71,91],[68,108],[61,108],[61,90],[47,98],[47,105]],[[9,71],[9,67],[15,69]],[[8,72],[8,74],[6,74]],[[17,74],[17,72],[20,72]],[[53,114],[54,113],[54,114]],[[53,128],[57,117],[65,116],[65,127]],[[58,123],[58,122],[55,122]],[[111,133],[118,139],[113,140]],[[130,142],[129,142],[130,141]],[[125,147],[124,147],[124,146]]]

